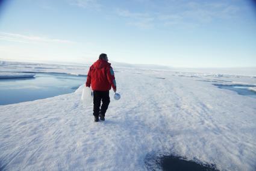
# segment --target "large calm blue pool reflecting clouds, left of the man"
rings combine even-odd
[[[86,76],[36,73],[35,78],[0,79],[0,105],[34,101],[75,92]]]

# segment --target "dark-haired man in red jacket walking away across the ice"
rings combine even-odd
[[[110,104],[109,90],[111,87],[116,92],[114,71],[110,63],[108,63],[106,54],[99,55],[99,60],[90,67],[86,87],[90,87],[91,84],[93,90],[93,116],[95,117],[95,122],[98,122],[99,117],[101,120],[105,120],[105,113]]]

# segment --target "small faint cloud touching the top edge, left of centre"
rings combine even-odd
[[[71,5],[92,10],[101,10],[101,4],[97,0],[70,0]]]

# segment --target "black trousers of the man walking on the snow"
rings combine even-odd
[[[102,101],[102,105],[101,105]],[[110,91],[93,91],[93,115],[99,116],[101,113],[105,116],[105,113],[110,104]],[[101,109],[99,109],[101,107]]]

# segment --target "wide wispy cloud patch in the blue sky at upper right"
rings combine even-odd
[[[177,2],[176,4],[155,4],[160,12],[133,12],[117,9],[116,14],[126,18],[128,25],[139,28],[152,28],[156,24],[163,26],[199,26],[214,22],[217,19],[227,20],[239,17],[240,7],[225,2]],[[168,10],[164,10],[168,9]]]

